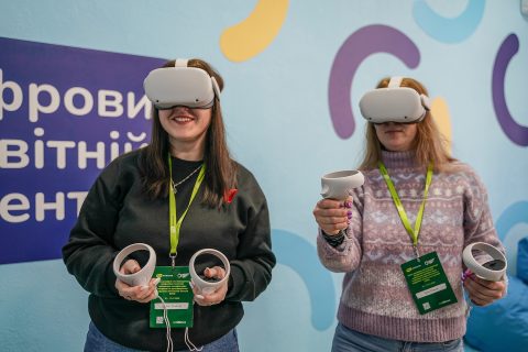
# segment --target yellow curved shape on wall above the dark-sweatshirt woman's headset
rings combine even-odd
[[[242,22],[220,36],[220,50],[232,62],[243,62],[263,52],[277,36],[288,10],[288,0],[260,0]]]

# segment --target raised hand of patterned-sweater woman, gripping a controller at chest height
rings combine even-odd
[[[324,233],[338,234],[349,227],[352,218],[351,207],[352,197],[345,200],[321,199],[314,209],[314,217]]]

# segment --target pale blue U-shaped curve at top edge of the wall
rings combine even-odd
[[[424,0],[415,0],[413,16],[429,36],[442,43],[459,43],[475,32],[484,13],[485,0],[469,0],[457,18],[440,16]]]

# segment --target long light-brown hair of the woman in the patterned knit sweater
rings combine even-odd
[[[376,88],[386,88],[391,77],[383,78]],[[413,78],[404,78],[400,87],[409,87],[420,95],[428,96],[426,87]],[[365,150],[360,169],[377,168],[377,162],[382,160],[382,143],[377,139],[374,123],[367,122],[365,131]],[[447,140],[438,130],[432,114],[426,111],[426,116],[421,122],[417,123],[417,132],[415,138],[416,161],[421,166],[427,166],[429,162],[435,163],[436,170],[447,170],[450,163],[455,158],[451,157],[447,150]]]

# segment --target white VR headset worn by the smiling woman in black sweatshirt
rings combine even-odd
[[[220,88],[215,77],[201,68],[188,67],[188,59],[178,58],[174,67],[151,70],[143,81],[145,95],[155,108],[172,109],[177,106],[207,109],[220,99]]]

